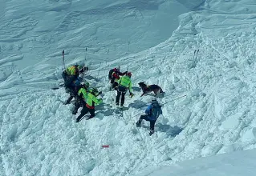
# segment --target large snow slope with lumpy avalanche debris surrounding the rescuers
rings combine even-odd
[[[2,0],[0,175],[135,175],[256,148],[255,22],[254,0]],[[51,90],[62,50],[104,92],[89,121],[75,123],[68,94]],[[110,106],[115,66],[135,93],[122,116]],[[152,136],[135,126],[152,98],[142,81],[166,92]]]

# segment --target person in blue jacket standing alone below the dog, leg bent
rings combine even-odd
[[[157,118],[163,114],[161,106],[159,103],[156,101],[156,99],[152,99],[151,104],[147,107],[145,110],[146,114],[143,114],[140,116],[138,122],[136,122],[136,126],[140,127],[142,120],[146,120],[150,122],[150,133],[149,135],[152,135],[155,131],[155,123]]]

